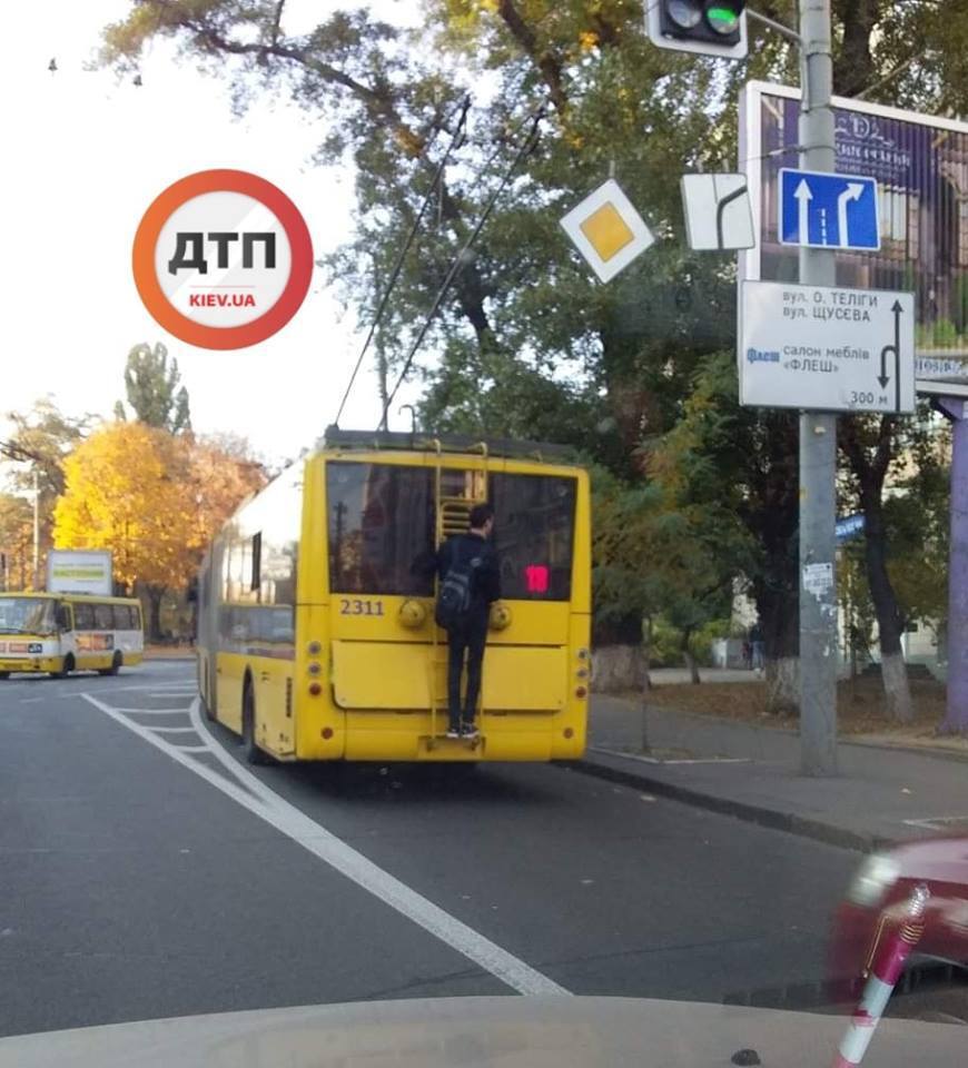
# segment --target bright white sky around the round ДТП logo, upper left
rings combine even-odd
[[[227,80],[177,61],[167,42],[145,57],[140,87],[113,71],[86,70],[101,29],[130,6],[33,0],[4,11],[7,40],[16,43],[0,65],[7,206],[0,413],[29,409],[52,394],[67,414],[110,417],[124,397],[129,349],[161,342],[178,360],[196,431],[244,435],[273,463],[292,458],[336,415],[365,336],[353,310],[326,291],[317,269],[302,309],[273,338],[235,352],[196,348],[168,335],[142,306],[131,243],[168,185],[227,167],[286,192],[318,258],[350,233],[353,174],[310,161],[325,132],[314,116],[279,98],[236,119]],[[284,32],[304,32],[339,6],[289,0]],[[411,0],[369,6],[388,21],[412,23],[418,14]],[[357,378],[345,427],[378,421],[372,367],[367,360]],[[418,394],[417,385],[404,386],[395,407]],[[408,414],[392,412],[394,424],[408,426]]]

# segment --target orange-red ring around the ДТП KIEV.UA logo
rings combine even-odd
[[[283,225],[289,239],[289,278],[275,304],[257,319],[240,326],[208,326],[179,312],[158,283],[155,248],[165,224],[181,205],[206,192],[240,192],[264,204]],[[181,178],[159,194],[135,234],[131,253],[135,285],[145,307],[159,326],[199,348],[247,348],[280,330],[299,310],[313,275],[313,241],[295,204],[270,181],[245,170],[203,170]]]

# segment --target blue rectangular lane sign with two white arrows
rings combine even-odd
[[[811,170],[780,171],[782,245],[811,248],[880,248],[877,180]]]

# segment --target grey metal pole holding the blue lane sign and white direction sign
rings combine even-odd
[[[800,166],[834,169],[830,0],[800,0]],[[836,285],[833,253],[800,249],[800,281]],[[837,773],[837,417],[800,415],[800,770]],[[809,582],[804,581],[809,577]]]

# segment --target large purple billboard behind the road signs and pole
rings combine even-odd
[[[921,393],[968,387],[968,122],[833,98],[836,170],[877,179],[880,249],[838,250],[837,285],[915,294]],[[800,90],[751,81],[740,98],[740,170],[757,245],[740,276],[796,281],[799,251],[778,234],[779,174],[799,167]]]

